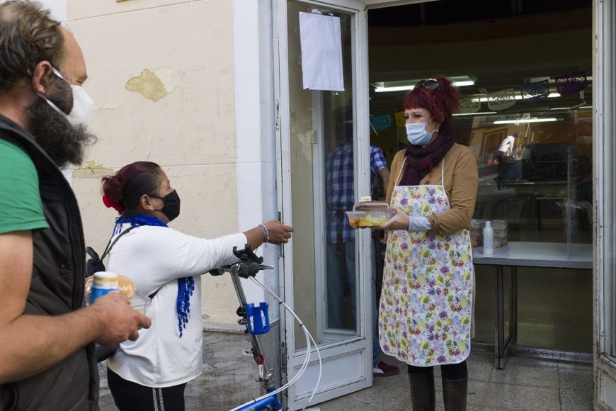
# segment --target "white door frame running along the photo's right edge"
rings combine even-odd
[[[616,5],[593,4],[593,180],[595,182],[594,405],[616,410]]]

